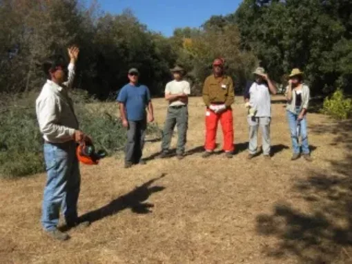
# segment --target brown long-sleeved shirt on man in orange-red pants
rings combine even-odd
[[[203,87],[203,101],[206,106],[212,103],[224,103],[227,107],[235,101],[233,81],[231,77],[224,75],[215,77],[214,74],[207,77]]]

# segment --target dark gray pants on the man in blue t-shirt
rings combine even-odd
[[[128,121],[127,143],[125,148],[125,162],[139,163],[146,137],[146,119]]]

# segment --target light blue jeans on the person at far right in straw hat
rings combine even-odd
[[[289,121],[291,141],[294,154],[300,153],[299,135],[297,134],[297,125],[300,124],[300,136],[302,141],[302,152],[303,154],[309,154],[309,143],[308,134],[306,129],[306,115],[301,121],[297,121],[297,117],[300,114],[300,108],[296,109],[296,113],[287,111],[287,120]]]

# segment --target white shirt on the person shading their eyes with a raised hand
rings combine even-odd
[[[271,97],[266,83],[253,82],[248,91],[249,103],[255,109],[256,117],[271,116]]]

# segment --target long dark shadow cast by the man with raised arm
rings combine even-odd
[[[107,205],[80,216],[80,221],[90,221],[90,223],[94,223],[95,221],[99,221],[107,216],[117,214],[125,209],[130,209],[136,214],[148,214],[152,212],[150,208],[154,207],[154,205],[153,203],[146,202],[146,200],[148,200],[149,196],[153,193],[161,192],[165,189],[164,186],[151,186],[155,183],[155,181],[164,178],[164,176],[166,176],[166,174],[162,174],[157,178],[151,179],[150,181],[135,187],[134,190],[128,192],[127,194],[119,196]]]

